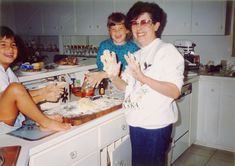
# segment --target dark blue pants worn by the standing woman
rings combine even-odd
[[[166,166],[172,125],[161,129],[130,126],[132,166]]]

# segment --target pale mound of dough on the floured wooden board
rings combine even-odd
[[[97,105],[90,98],[81,98],[78,100],[79,111],[89,111],[96,109]]]

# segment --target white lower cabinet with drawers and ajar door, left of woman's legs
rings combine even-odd
[[[128,133],[125,116],[121,114],[45,150],[34,152],[29,166],[130,166]]]

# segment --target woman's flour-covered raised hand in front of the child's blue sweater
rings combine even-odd
[[[104,51],[101,56],[101,62],[104,65],[103,70],[107,73],[109,78],[117,77],[120,73],[121,62],[117,63],[116,54],[110,53],[108,50]]]

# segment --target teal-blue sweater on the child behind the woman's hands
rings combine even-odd
[[[103,63],[101,62],[100,57],[103,55],[104,50],[115,52],[117,61],[121,61],[121,69],[123,71],[127,65],[124,55],[127,55],[128,52],[134,53],[139,50],[139,47],[133,41],[128,41],[124,45],[115,45],[112,39],[102,41],[96,56],[96,64],[99,70],[103,70]]]

